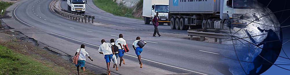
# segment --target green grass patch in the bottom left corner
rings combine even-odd
[[[0,45],[1,75],[58,75],[53,68],[44,66],[31,56],[23,55]]]

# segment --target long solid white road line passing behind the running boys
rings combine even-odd
[[[54,34],[54,33],[51,33],[51,34]],[[58,35],[58,34],[54,34],[54,35],[61,36],[61,35]],[[64,38],[70,39],[70,38],[65,37],[65,36],[61,36],[61,37],[64,37]],[[81,43],[85,43],[85,42],[78,41],[78,40],[75,40],[75,39],[71,39],[71,40],[74,40],[74,41],[77,41],[77,42],[81,42]],[[85,44],[93,45],[93,44],[89,44],[89,43],[85,43]],[[100,47],[100,46],[97,46],[97,45],[93,45],[93,46]],[[128,55],[128,54],[124,54],[124,55]],[[132,56],[132,55],[128,55],[128,56],[130,56],[130,57],[135,57],[135,56]],[[138,58],[138,57],[135,57],[135,58]],[[143,58],[141,58],[141,59],[143,59]],[[159,62],[156,62],[156,61],[151,61],[151,60],[148,60],[148,59],[143,59],[143,60],[150,61],[150,62],[153,62],[153,63],[156,63],[156,64],[161,64],[161,65],[165,65],[165,66],[169,66],[169,67],[177,68],[177,69],[181,69],[181,70],[186,70],[186,71],[189,71],[189,72],[194,72],[194,73],[197,73],[197,74],[208,75],[208,74],[204,74],[204,73],[201,73],[201,72],[196,72],[196,71],[187,70],[187,69],[184,69],[184,68],[179,68],[179,67],[175,67],[175,66],[171,66],[171,65],[167,65],[167,64],[162,64],[162,63],[159,63]]]

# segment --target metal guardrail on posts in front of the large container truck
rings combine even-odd
[[[213,32],[202,32],[202,31],[213,31]],[[222,39],[228,39],[231,37],[230,34],[220,33],[221,31],[226,31],[223,29],[214,29],[213,28],[204,28],[202,31],[193,31],[187,30],[190,39],[193,39],[193,36],[200,36],[200,41],[204,41],[205,37],[215,38],[215,42],[222,43]]]

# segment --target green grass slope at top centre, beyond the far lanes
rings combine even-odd
[[[135,18],[132,16],[133,14],[133,8],[128,8],[126,6],[118,5],[116,2],[113,0],[93,0],[93,3],[99,7],[100,9],[111,13],[115,16],[123,16],[127,18]],[[142,19],[141,18],[135,18],[135,19]]]

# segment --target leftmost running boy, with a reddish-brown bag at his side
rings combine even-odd
[[[85,69],[85,61],[86,61],[86,57],[87,56],[91,61],[93,61],[93,59],[90,58],[90,55],[88,52],[86,52],[85,49],[85,45],[81,44],[81,48],[77,49],[77,52],[75,53],[75,56],[79,53],[79,58],[77,60],[77,64],[75,65],[77,67],[77,74],[79,75],[79,67],[81,67],[81,70],[83,70],[84,72],[86,71]]]

